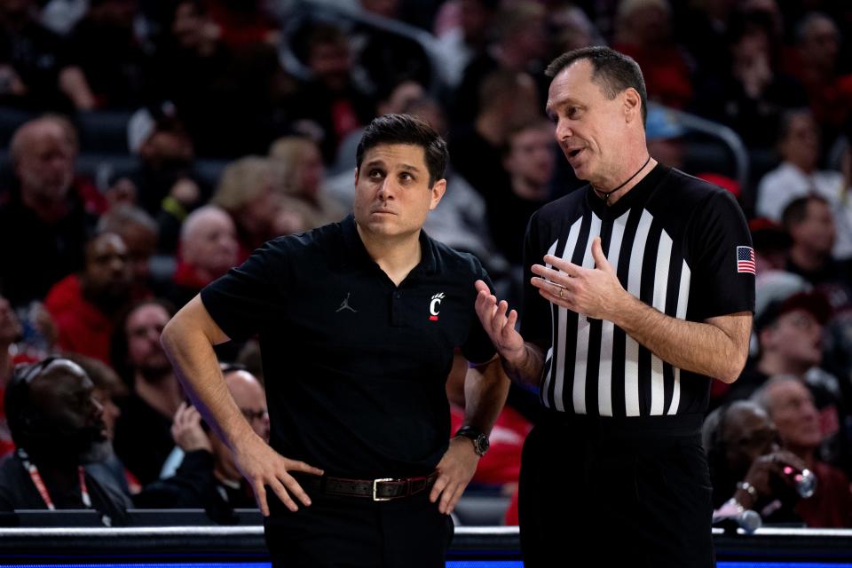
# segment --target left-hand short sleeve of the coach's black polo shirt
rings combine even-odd
[[[285,261],[280,241],[267,242],[201,290],[201,302],[225,335],[247,339],[281,321]]]

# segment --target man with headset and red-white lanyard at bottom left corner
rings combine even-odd
[[[83,467],[106,436],[93,389],[68,359],[16,367],[5,410],[18,449],[0,464],[0,509],[95,509],[105,525],[124,524],[130,500]]]

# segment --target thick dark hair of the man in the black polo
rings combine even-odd
[[[410,114],[384,114],[367,125],[355,154],[357,168],[360,170],[364,154],[367,154],[368,150],[388,144],[422,147],[426,155],[430,187],[444,178],[449,158],[444,138],[429,124]]]

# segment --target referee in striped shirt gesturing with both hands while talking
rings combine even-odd
[[[509,376],[546,408],[522,457],[525,565],[711,566],[700,428],[710,377],[732,383],[748,353],[746,220],[722,188],[651,157],[633,59],[570,51],[548,75],[556,140],[588,185],[530,220],[520,333],[477,284]]]

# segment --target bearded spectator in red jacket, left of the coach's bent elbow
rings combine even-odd
[[[115,233],[86,243],[85,267],[51,288],[44,306],[59,330],[59,348],[105,363],[114,321],[131,300],[127,246]]]

